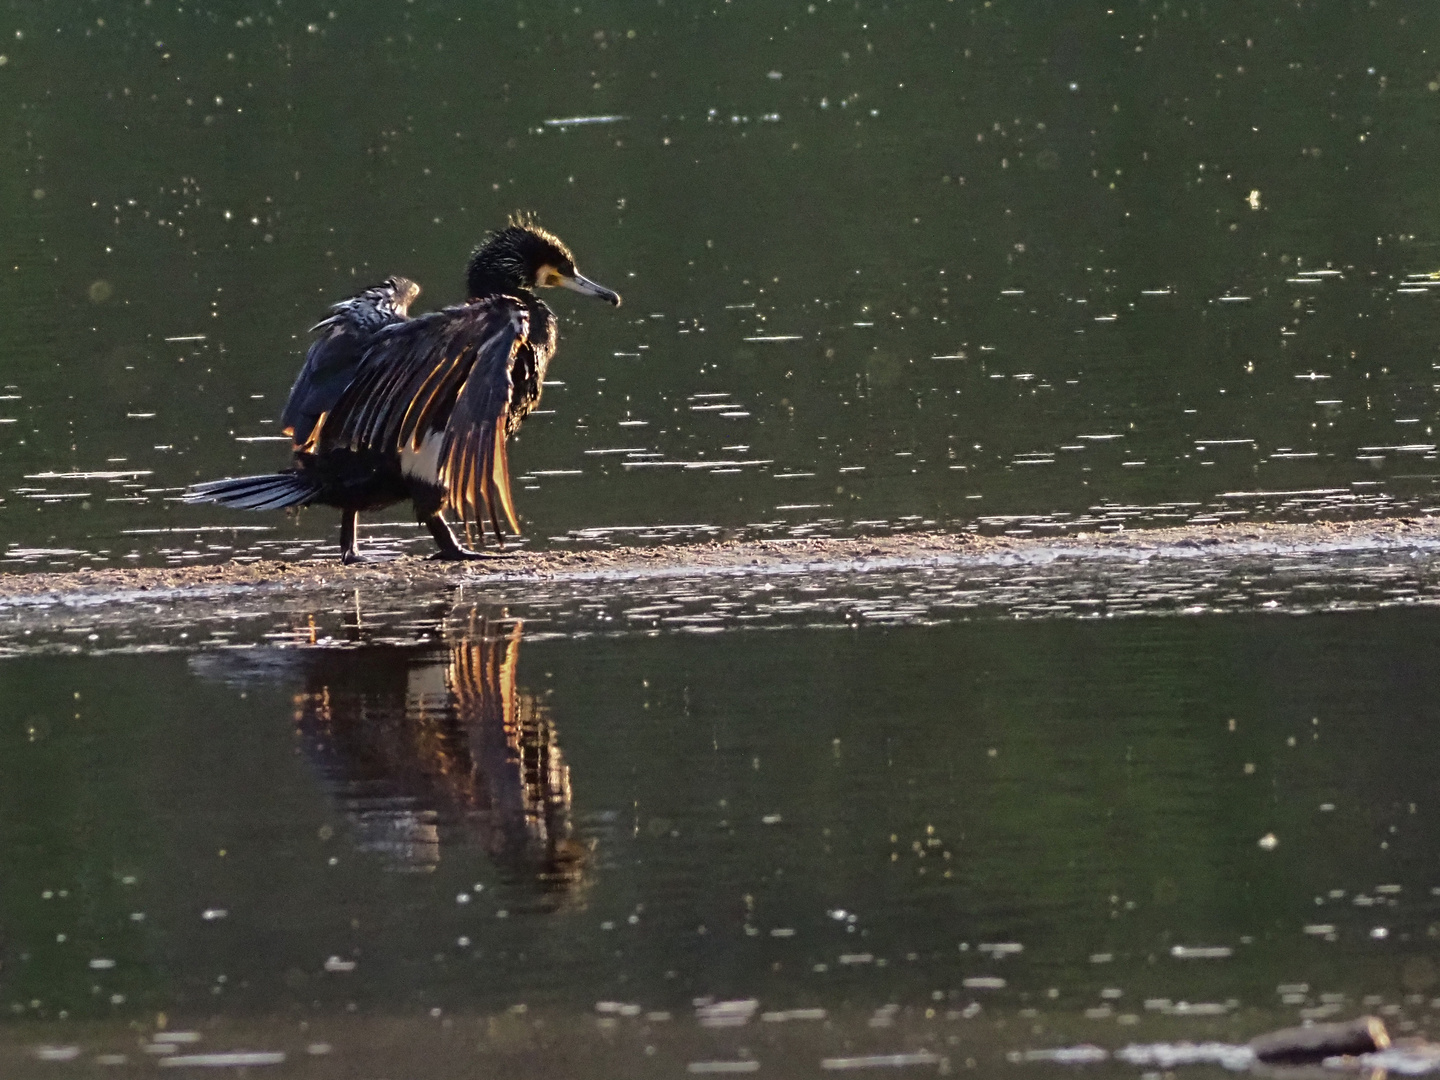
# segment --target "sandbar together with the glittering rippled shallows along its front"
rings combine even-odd
[[[527,636],[936,625],[972,618],[1315,613],[1440,602],[1440,524],[1231,524],[1064,539],[910,533],[248,562],[0,577],[0,655],[413,644],[482,605]]]

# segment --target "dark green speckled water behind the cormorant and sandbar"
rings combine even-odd
[[[454,301],[517,207],[626,295],[557,301],[531,543],[1426,511],[1437,30],[1359,0],[13,4],[9,564],[328,546],[328,511],[171,497],[284,464],[245,439],[327,302],[387,272]],[[266,531],[190,531],[235,524]]]

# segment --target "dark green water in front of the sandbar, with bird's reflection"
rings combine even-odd
[[[330,647],[0,665],[12,1038],[94,1051],[96,1022],[163,1012],[264,1048],[523,1005],[658,1030],[626,1074],[654,1038],[671,1071],[763,1066],[791,1009],[831,1018],[828,1054],[956,1061],[1428,1027],[1424,612],[531,642],[498,611],[412,619],[429,645],[361,613]],[[726,1001],[752,1004],[716,1043]]]

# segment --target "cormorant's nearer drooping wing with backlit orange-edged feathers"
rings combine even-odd
[[[441,487],[452,513],[484,521],[501,510],[516,531],[505,456],[511,366],[530,317],[488,297],[382,330],[324,425],[325,445],[396,454]]]

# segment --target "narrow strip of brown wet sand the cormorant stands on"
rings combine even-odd
[[[262,595],[348,586],[562,585],[586,580],[664,580],[844,573],[923,567],[995,566],[996,563],[1074,563],[1120,567],[1155,559],[1246,560],[1266,556],[1348,556],[1440,547],[1440,520],[1377,518],[1305,524],[1218,524],[1176,528],[1079,533],[1070,537],[986,537],[971,533],[903,533],[842,539],[736,540],[647,547],[593,547],[576,552],[521,552],[503,559],[441,563],[403,556],[343,566],[338,559],[311,562],[230,562],[213,566],[114,567],[68,573],[0,576],[0,606],[39,602],[134,600],[137,595],[199,598],[222,592]]]

